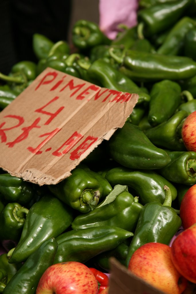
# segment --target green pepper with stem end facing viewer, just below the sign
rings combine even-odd
[[[95,208],[103,193],[99,181],[80,167],[76,167],[65,180],[48,188],[61,201],[83,213]]]

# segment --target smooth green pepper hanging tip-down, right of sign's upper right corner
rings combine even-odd
[[[181,88],[174,81],[154,83],[150,91],[148,121],[151,126],[167,121],[181,103]]]

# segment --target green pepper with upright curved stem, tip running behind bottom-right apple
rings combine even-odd
[[[169,245],[172,237],[180,228],[182,221],[175,210],[171,207],[171,194],[167,186],[164,186],[165,201],[147,203],[138,220],[134,237],[131,240],[126,266],[137,248],[149,242],[159,242]]]

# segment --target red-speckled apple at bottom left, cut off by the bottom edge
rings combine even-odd
[[[43,273],[36,294],[97,294],[98,283],[83,263],[70,261],[51,265]]]

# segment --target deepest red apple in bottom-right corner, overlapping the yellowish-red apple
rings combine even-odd
[[[176,237],[171,246],[172,262],[187,280],[196,283],[196,223]]]

